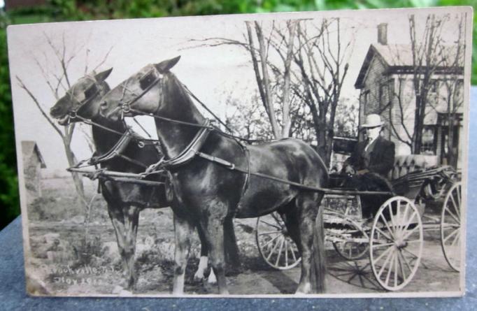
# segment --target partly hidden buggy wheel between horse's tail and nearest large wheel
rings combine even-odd
[[[334,249],[344,259],[362,259],[369,249],[368,234],[353,221],[347,220],[345,226],[346,230],[333,241]]]

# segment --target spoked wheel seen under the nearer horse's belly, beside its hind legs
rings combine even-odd
[[[258,250],[269,266],[279,270],[297,266],[301,257],[278,213],[273,212],[257,219],[255,231]]]

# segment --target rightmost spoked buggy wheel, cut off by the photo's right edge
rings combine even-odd
[[[460,205],[462,182],[455,183],[448,191],[442,206],[441,245],[450,268],[460,271]]]

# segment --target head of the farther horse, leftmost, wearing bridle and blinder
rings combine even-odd
[[[92,119],[99,115],[100,99],[109,91],[105,80],[111,71],[113,68],[78,79],[50,109],[51,117],[57,119],[59,124],[66,125],[80,121],[76,116]]]

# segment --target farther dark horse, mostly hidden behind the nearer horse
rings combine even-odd
[[[153,145],[139,147],[138,141],[132,138],[124,147],[118,147],[124,133],[130,133],[126,124],[120,121],[108,120],[99,115],[100,99],[110,90],[105,79],[112,69],[97,74],[85,75],[80,78],[66,95],[57,101],[50,110],[50,115],[56,118],[59,124],[90,120],[92,122],[92,136],[96,152],[92,159],[101,159],[111,151],[118,151],[120,155],[108,157],[101,161],[101,168],[109,171],[124,173],[142,173],[150,164],[159,161],[159,154]],[[101,127],[103,126],[103,127]],[[134,135],[134,133],[131,133]],[[124,140],[123,140],[124,141]],[[122,157],[124,156],[124,157]],[[160,181],[160,178],[156,178]],[[136,249],[136,234],[138,229],[139,212],[144,208],[165,208],[170,206],[166,199],[164,185],[141,185],[131,182],[118,182],[100,179],[101,193],[108,203],[108,214],[113,222],[115,235],[118,240],[118,249],[127,276],[126,287],[134,288],[137,277],[134,270],[134,252]],[[225,223],[227,233],[227,254],[232,259],[238,257],[238,249],[234,236],[234,227],[231,222]],[[199,231],[201,241],[204,235]],[[195,273],[195,279],[204,277],[207,268],[207,243],[201,243],[201,260]],[[209,282],[215,282],[215,275],[211,273]]]

